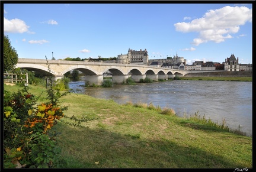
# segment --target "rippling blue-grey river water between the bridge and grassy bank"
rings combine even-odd
[[[84,87],[85,82],[70,82],[69,88],[94,98],[117,103],[153,103],[172,108],[178,116],[198,115],[252,136],[252,82],[216,80],[168,80],[166,82]]]

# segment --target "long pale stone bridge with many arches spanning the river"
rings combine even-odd
[[[85,75],[85,82],[101,85],[103,74],[107,71],[112,73],[113,83],[123,83],[132,77],[135,82],[146,77],[152,80],[185,76],[188,73],[224,72],[225,70],[178,70],[164,67],[143,66],[138,64],[120,64],[88,61],[68,60],[42,60],[19,58],[16,68],[23,68],[42,73],[44,76],[53,76],[55,80],[63,78],[66,72],[79,70]]]

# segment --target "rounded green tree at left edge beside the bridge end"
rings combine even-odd
[[[11,46],[8,35],[4,35],[4,73],[14,69],[17,63],[17,51]]]

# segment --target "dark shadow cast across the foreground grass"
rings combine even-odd
[[[185,124],[184,124],[185,125]],[[68,129],[66,129],[68,128]],[[202,127],[200,127],[202,128]],[[110,132],[107,129],[81,129],[58,123],[56,138],[62,148],[63,168],[250,168],[222,155],[209,154],[190,145],[140,135]],[[205,128],[207,129],[207,128]],[[120,131],[121,132],[121,131]],[[181,142],[183,140],[181,139]]]

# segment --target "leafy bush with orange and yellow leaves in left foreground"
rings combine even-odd
[[[37,105],[39,96],[28,92],[30,87],[24,83],[21,86],[17,93],[4,90],[4,167],[15,167],[14,161],[28,168],[59,167],[60,148],[54,139],[56,134],[49,130],[68,109],[59,106],[59,98],[69,92],[60,92],[59,83],[50,78],[49,101]]]

